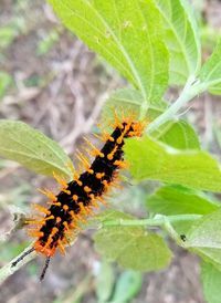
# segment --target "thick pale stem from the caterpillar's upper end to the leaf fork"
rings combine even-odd
[[[160,125],[165,124],[170,118],[173,118],[178,111],[185,106],[189,101],[206,91],[203,85],[196,81],[194,76],[190,76],[185,85],[185,88],[177,101],[168,107],[160,116],[151,122],[147,127],[147,133],[152,133]]]

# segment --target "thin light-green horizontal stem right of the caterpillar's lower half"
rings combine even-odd
[[[133,226],[145,226],[145,227],[164,227],[165,222],[170,223],[180,221],[194,221],[202,217],[202,215],[176,215],[176,216],[161,216],[158,215],[152,219],[139,219],[139,220],[128,220],[128,219],[115,219],[102,222],[102,227],[133,227]]]

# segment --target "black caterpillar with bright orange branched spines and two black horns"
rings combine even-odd
[[[80,229],[80,223],[85,221],[94,208],[98,208],[99,201],[104,201],[104,195],[115,181],[118,170],[125,167],[124,139],[140,136],[144,126],[143,122],[136,122],[134,117],[127,117],[120,122],[115,115],[114,130],[112,134],[103,134],[104,146],[101,150],[86,140],[92,147],[91,154],[95,156],[93,163],[90,164],[85,156],[78,154],[85,171],[82,174],[73,171],[73,180],[70,182],[55,176],[62,186],[57,195],[50,190],[42,191],[49,198],[50,207],[35,205],[36,210],[44,213],[44,217],[28,221],[31,226],[29,234],[35,237],[36,240],[30,250],[12,263],[12,267],[33,251],[42,253],[46,259],[40,281],[44,279],[50,260],[56,250],[59,249],[62,254],[65,253],[69,236]]]

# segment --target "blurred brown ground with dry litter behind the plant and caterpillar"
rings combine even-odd
[[[203,58],[221,36],[221,1],[194,0]],[[44,0],[0,0],[0,118],[19,119],[42,130],[74,158],[82,136],[91,136],[108,92],[126,82],[66,31]],[[170,90],[168,98],[178,93]],[[200,134],[203,148],[221,154],[221,100],[204,94],[183,109]],[[56,188],[18,164],[0,159],[0,234],[12,229],[11,213],[30,211],[43,198],[36,188]],[[145,190],[150,191],[151,185]],[[126,185],[113,196],[115,208],[146,216],[144,187]],[[133,200],[131,200],[133,197]],[[128,203],[129,199],[129,203]],[[17,219],[17,218],[15,218]],[[29,243],[24,230],[0,241],[0,267]],[[199,261],[170,243],[175,258],[156,273],[124,271],[105,263],[93,247],[93,231],[84,231],[65,258],[56,255],[43,283],[38,257],[0,286],[0,303],[148,302],[203,303]]]

